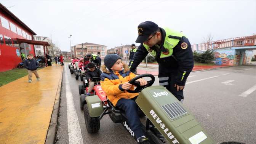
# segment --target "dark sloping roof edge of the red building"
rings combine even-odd
[[[2,3],[0,3],[0,11],[4,14],[6,14],[8,17],[13,19],[15,22],[20,24],[21,26],[25,27],[29,32],[32,33],[32,35],[37,35],[33,30],[31,30],[24,22],[22,22],[17,16],[15,16],[11,11],[9,11]]]

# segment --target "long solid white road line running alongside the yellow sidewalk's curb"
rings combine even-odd
[[[65,67],[66,68],[66,67]],[[66,99],[67,99],[67,125],[69,134],[69,144],[83,144],[80,125],[75,110],[73,96],[70,91],[69,79],[67,78],[68,71],[65,72],[66,80]]]

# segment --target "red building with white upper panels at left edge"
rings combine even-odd
[[[0,72],[17,67],[21,54],[35,56],[34,45],[22,43],[32,41],[33,35],[35,32],[0,3]]]

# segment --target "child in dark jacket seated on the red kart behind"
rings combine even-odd
[[[86,80],[89,82],[87,95],[90,96],[91,90],[93,89],[93,86],[94,86],[94,83],[95,83],[95,82],[91,81],[91,78],[100,77],[102,72],[92,62],[90,62],[87,66],[88,67],[87,67],[86,72],[85,72],[85,77],[86,77]]]

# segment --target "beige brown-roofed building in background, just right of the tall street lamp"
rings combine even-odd
[[[78,45],[71,46],[72,58],[82,58],[86,54],[97,54],[103,60],[107,54],[107,46],[99,45],[95,43],[81,43]]]

